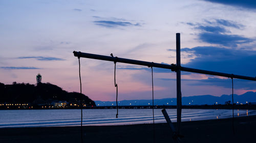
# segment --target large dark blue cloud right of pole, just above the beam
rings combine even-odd
[[[193,52],[196,56],[195,59],[183,64],[184,67],[256,76],[256,51],[213,46],[184,48],[181,51]]]

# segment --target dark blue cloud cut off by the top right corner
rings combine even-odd
[[[204,0],[212,3],[219,3],[224,5],[243,7],[249,9],[256,9],[256,1],[254,0]]]

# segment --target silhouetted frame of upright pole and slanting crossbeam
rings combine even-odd
[[[133,65],[140,65],[140,66],[147,66],[147,67],[156,67],[156,68],[170,69],[172,71],[175,71],[177,73],[176,78],[177,78],[177,134],[178,135],[180,134],[180,123],[181,123],[181,75],[180,75],[181,71],[256,81],[256,77],[181,67],[180,65],[180,33],[176,33],[176,65],[175,64],[166,65],[166,64],[159,64],[154,62],[124,59],[124,58],[118,58],[118,57],[112,57],[112,56],[106,56],[106,55],[84,53],[80,51],[79,52],[73,51],[73,53],[74,53],[74,56],[77,56],[78,58],[89,58],[89,59],[97,59],[97,60],[103,60],[103,61],[112,61],[116,63],[119,62],[119,63],[133,64]]]

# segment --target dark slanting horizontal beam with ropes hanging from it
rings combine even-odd
[[[256,77],[249,77],[249,76],[242,76],[242,75],[236,75],[236,74],[228,74],[228,73],[221,73],[221,72],[214,72],[214,71],[207,71],[207,70],[200,70],[200,69],[193,69],[193,68],[186,68],[186,67],[177,67],[174,64],[166,65],[166,64],[117,58],[117,57],[112,57],[112,56],[84,53],[84,52],[77,52],[77,51],[73,51],[73,53],[74,53],[74,56],[81,57],[81,58],[112,61],[112,62],[133,64],[133,65],[140,65],[140,66],[147,66],[147,67],[156,67],[156,68],[170,69],[172,71],[176,71],[177,68],[180,68],[181,71],[186,71],[186,72],[202,73],[202,74],[217,75],[217,76],[222,76],[222,77],[238,78],[238,79],[246,79],[246,80],[256,81]]]

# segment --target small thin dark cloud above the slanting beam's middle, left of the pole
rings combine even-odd
[[[122,22],[122,21],[93,21],[96,25],[103,26],[103,27],[117,27],[117,26],[140,26],[139,23],[133,24],[131,22]]]

